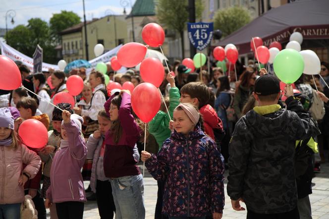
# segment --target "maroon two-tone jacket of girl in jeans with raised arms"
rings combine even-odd
[[[108,114],[111,100],[114,97],[112,95],[104,104]],[[131,114],[131,96],[123,93],[121,97],[122,100],[119,108],[119,119],[122,126],[121,138],[118,143],[115,143],[111,130],[105,135],[104,172],[105,176],[109,178],[141,174],[133,157],[133,149],[140,138],[141,128]]]

